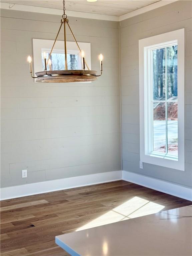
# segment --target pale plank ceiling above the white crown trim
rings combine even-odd
[[[65,0],[65,8],[69,11],[121,16],[159,1],[162,0],[98,0],[97,2]],[[1,2],[63,9],[62,0],[1,0]]]

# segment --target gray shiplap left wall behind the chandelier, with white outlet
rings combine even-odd
[[[103,75],[91,84],[34,83],[32,38],[55,39],[60,17],[1,10],[2,187],[121,169],[118,22],[69,22],[77,41],[91,43],[93,70],[103,53]]]

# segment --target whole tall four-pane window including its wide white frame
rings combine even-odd
[[[184,170],[184,29],[139,40],[140,160]]]

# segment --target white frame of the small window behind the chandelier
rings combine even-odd
[[[50,52],[53,46],[54,40],[46,40],[46,39],[34,39],[33,38],[33,67],[34,74],[36,72],[42,71],[42,50],[45,52]],[[91,43],[78,42],[80,49],[85,52],[86,62],[91,70]],[[53,52],[65,52],[64,51],[64,41],[56,41]],[[81,62],[81,54],[77,48],[75,42],[67,41],[67,53],[79,54],[79,60]],[[79,65],[81,64],[79,62]],[[80,65],[81,66],[81,65]],[[87,69],[87,67],[85,67]],[[36,79],[35,79],[36,80]],[[85,82],[87,83],[87,82]]]

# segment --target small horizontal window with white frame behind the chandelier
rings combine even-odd
[[[53,46],[54,40],[33,39],[33,59],[34,72],[44,70],[43,52],[47,59]],[[86,62],[91,69],[91,44],[78,42],[79,47],[85,52]],[[62,61],[63,60],[63,61]],[[82,69],[82,60],[80,51],[75,42],[67,42],[67,66],[68,69]],[[51,54],[51,66],[47,65],[47,70],[65,69],[65,51],[64,42],[56,41]]]

